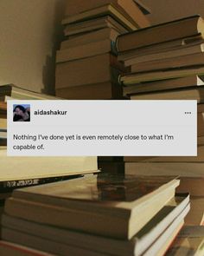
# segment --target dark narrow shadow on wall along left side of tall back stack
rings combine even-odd
[[[52,35],[53,49],[52,56],[46,57],[45,65],[42,69],[42,83],[44,88],[41,92],[48,95],[55,95],[55,59],[56,51],[60,49],[64,40],[61,20],[65,16],[67,0],[56,1],[54,6],[54,33]]]

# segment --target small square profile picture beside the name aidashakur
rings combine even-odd
[[[13,121],[30,121],[30,105],[13,105]]]

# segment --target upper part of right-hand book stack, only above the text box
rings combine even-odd
[[[118,36],[118,59],[131,73],[120,77],[131,100],[203,101],[204,22],[201,16]]]

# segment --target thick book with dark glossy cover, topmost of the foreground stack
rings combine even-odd
[[[5,213],[115,239],[130,240],[175,196],[172,178],[92,175],[16,189]],[[58,218],[56,218],[56,214]]]

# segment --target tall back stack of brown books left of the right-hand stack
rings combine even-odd
[[[67,40],[56,55],[56,95],[72,100],[121,99],[118,35],[148,26],[133,0],[69,0],[62,21]]]

